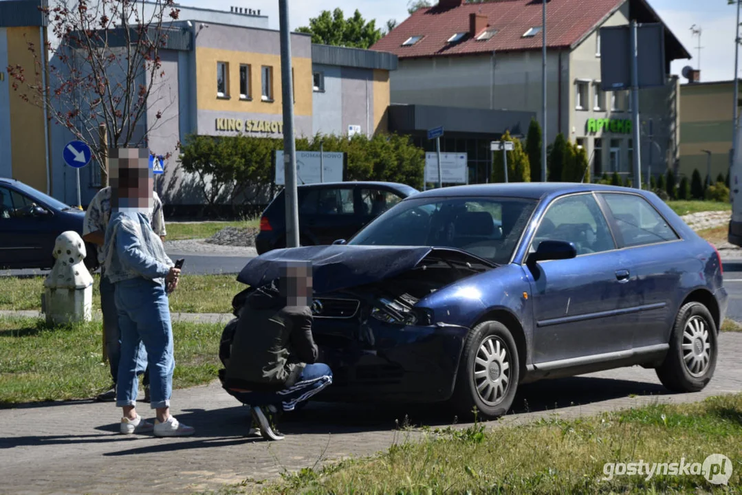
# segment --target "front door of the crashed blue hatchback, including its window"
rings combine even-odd
[[[577,258],[527,263],[533,276],[533,363],[610,360],[631,349],[633,320],[623,313],[623,266],[614,235],[593,194],[559,197],[548,206],[531,242],[574,243]],[[589,358],[588,358],[589,356]]]

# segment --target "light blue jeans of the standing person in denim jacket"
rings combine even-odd
[[[170,407],[175,359],[165,286],[145,278],[117,282],[116,309],[121,329],[116,405],[123,407],[137,404],[137,370],[140,369],[140,361],[146,351],[150,374],[150,407]]]

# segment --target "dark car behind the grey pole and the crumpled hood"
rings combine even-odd
[[[298,186],[299,243],[329,244],[347,239],[416,189],[384,182],[344,182]],[[257,254],[286,247],[286,195],[283,191],[260,217]]]

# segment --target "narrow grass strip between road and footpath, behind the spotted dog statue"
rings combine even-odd
[[[98,284],[100,275],[93,275],[93,310],[100,309]],[[1,279],[0,309],[21,311],[41,309],[44,293],[43,277],[4,277]],[[236,275],[188,275],[185,273],[178,288],[170,295],[172,312],[231,312],[232,298],[244,289]]]

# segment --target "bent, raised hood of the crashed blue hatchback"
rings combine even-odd
[[[427,246],[306,246],[276,249],[249,260],[237,281],[259,287],[280,275],[282,261],[311,261],[313,289],[319,294],[382,281],[415,268],[431,253],[444,258],[485,260],[459,249]],[[488,263],[491,264],[491,263]]]

